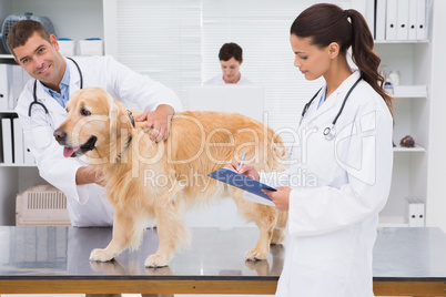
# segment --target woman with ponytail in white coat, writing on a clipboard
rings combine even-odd
[[[374,296],[372,249],[393,163],[392,103],[379,86],[381,59],[364,18],[333,4],[303,11],[290,40],[305,79],[326,82],[303,112],[296,162],[283,174],[261,176],[252,165],[232,166],[277,186],[266,194],[290,211],[276,296]],[[349,47],[358,71],[347,63]]]

